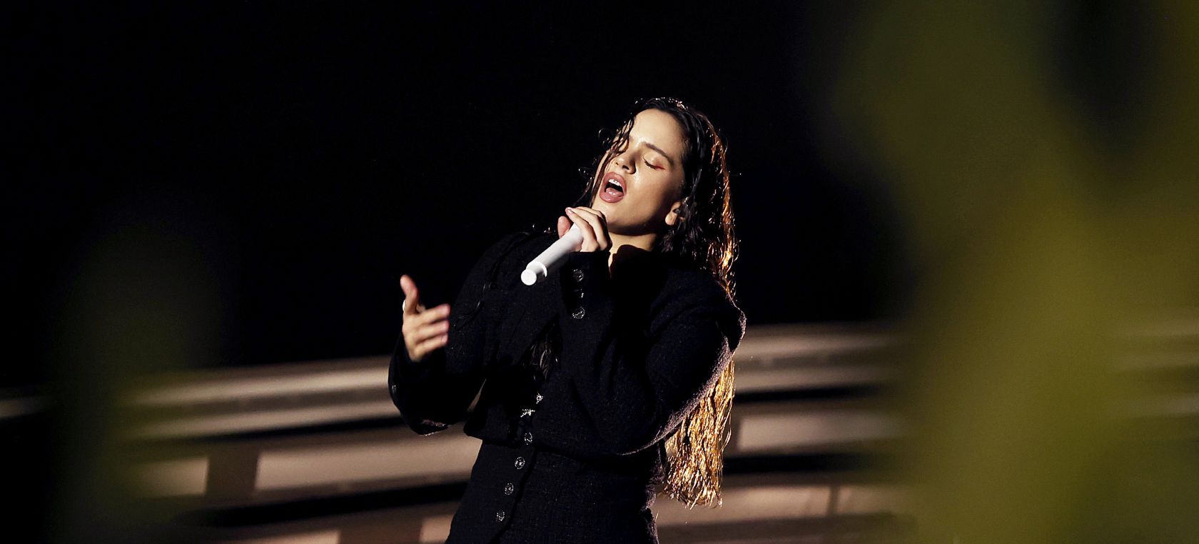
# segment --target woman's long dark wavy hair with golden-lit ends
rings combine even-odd
[[[712,274],[730,300],[735,300],[733,262],[737,258],[729,171],[724,140],[703,111],[675,98],[649,98],[634,103],[621,127],[608,137],[601,133],[607,151],[583,173],[590,179],[582,206],[589,206],[600,191],[600,179],[611,159],[628,145],[628,133],[637,114],[657,109],[670,114],[682,128],[685,152],[683,182],[679,219],[663,223],[655,252],[671,255]],[[695,504],[718,507],[724,446],[729,442],[729,413],[733,409],[733,361],[700,394],[699,404],[686,415],[679,429],[667,439],[667,467],[661,492],[688,508]]]

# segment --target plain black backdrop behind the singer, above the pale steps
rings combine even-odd
[[[650,96],[729,145],[751,326],[904,312],[902,225],[824,107],[856,7],[7,11],[5,386],[53,380],[78,336],[164,322],[171,368],[390,352],[402,273],[452,301]]]

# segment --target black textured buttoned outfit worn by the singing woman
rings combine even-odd
[[[392,401],[418,434],[466,417],[483,441],[450,542],[656,542],[649,506],[664,440],[745,332],[710,273],[643,253],[608,273],[608,252],[573,253],[534,286],[519,274],[553,234],[493,244],[451,307],[450,341],[412,363],[400,338]],[[548,376],[528,364],[560,338]],[[486,380],[486,383],[484,383]]]

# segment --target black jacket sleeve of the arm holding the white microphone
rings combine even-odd
[[[561,271],[561,352],[537,406],[536,442],[577,457],[627,455],[673,433],[729,364],[745,316],[713,283],[667,297],[641,334],[617,315],[608,252]],[[706,279],[706,278],[705,278]]]

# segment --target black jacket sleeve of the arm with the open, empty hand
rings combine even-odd
[[[444,430],[466,417],[484,377],[484,346],[492,321],[488,319],[492,308],[486,301],[492,276],[507,249],[522,236],[516,232],[500,238],[471,268],[450,307],[450,337],[445,347],[412,362],[400,334],[387,371],[387,388],[404,422],[417,434]]]

